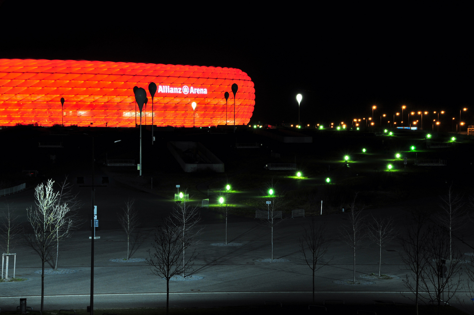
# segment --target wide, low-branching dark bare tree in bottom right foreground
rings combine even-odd
[[[462,288],[462,254],[448,243],[448,231],[433,227],[426,242],[426,264],[421,277],[422,290],[428,293],[428,300],[436,303],[437,313],[446,306],[456,292]],[[451,255],[451,259],[447,257]]]

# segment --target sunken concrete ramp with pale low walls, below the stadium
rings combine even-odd
[[[166,146],[186,173],[197,171],[224,172],[224,163],[208,148],[204,147],[201,142],[170,141]]]

